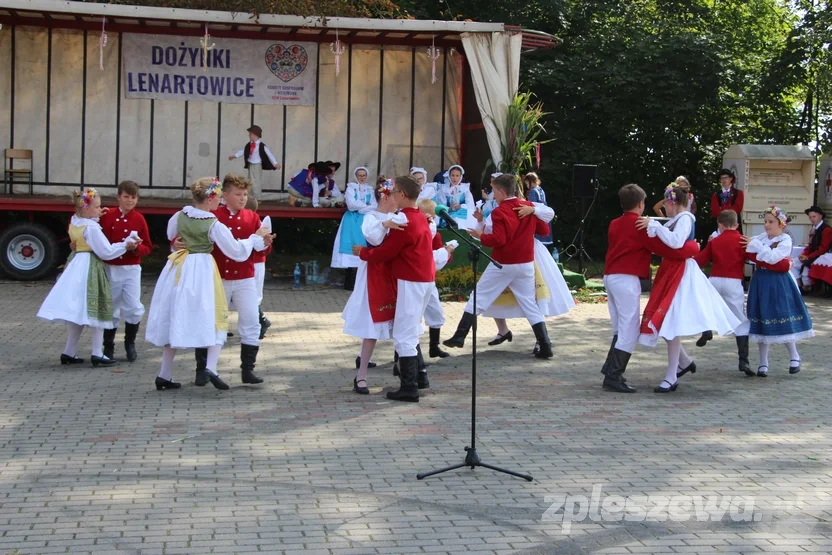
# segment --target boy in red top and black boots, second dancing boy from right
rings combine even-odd
[[[636,221],[644,213],[647,194],[636,184],[624,185],[618,191],[618,200],[624,214],[612,222],[607,230],[607,256],[604,262],[604,287],[607,290],[607,308],[612,323],[612,344],[601,368],[603,387],[607,391],[635,393],[627,384],[624,372],[630,362],[641,329],[641,281],[650,279],[650,261],[653,253],[670,258],[690,258],[695,251],[687,244],[681,249],[671,249],[657,237],[636,228]],[[692,247],[696,247],[692,244]]]

